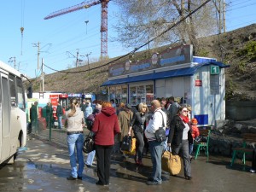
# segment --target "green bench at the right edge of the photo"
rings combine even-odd
[[[246,154],[253,154],[253,148],[249,148],[250,144],[251,146],[253,143],[256,143],[256,133],[245,133],[242,135],[242,146],[241,148],[232,148],[233,155],[230,166],[234,165],[234,162],[236,160],[236,154],[241,153],[242,154],[242,163],[243,165],[246,164]]]

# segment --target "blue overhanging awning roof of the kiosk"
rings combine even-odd
[[[181,69],[170,70],[166,72],[159,72],[159,73],[149,73],[144,75],[138,75],[133,77],[127,77],[123,79],[113,79],[108,80],[102,84],[102,86],[108,86],[113,84],[126,84],[138,81],[147,81],[147,80],[154,80],[154,79],[166,79],[166,78],[174,78],[174,77],[184,77],[184,76],[192,76],[195,72],[203,66],[215,65],[220,68],[230,67],[229,65],[225,65],[222,62],[218,61],[208,61],[205,63],[200,63],[195,65],[194,67],[186,67]]]

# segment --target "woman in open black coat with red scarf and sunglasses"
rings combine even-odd
[[[173,154],[181,152],[183,155],[184,175],[187,180],[190,180],[192,177],[189,143],[193,143],[193,138],[189,129],[188,108],[181,107],[177,110],[177,115],[172,119],[170,127],[167,145],[172,146]]]

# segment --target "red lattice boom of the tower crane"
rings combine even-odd
[[[52,12],[51,14],[44,17],[44,20],[49,20],[51,18],[60,16],[60,15],[65,15],[65,14],[68,14],[68,13],[72,13],[73,11],[77,11],[77,10],[80,10],[80,9],[87,9],[87,8],[90,8],[93,5],[100,4],[101,2],[102,2],[101,0],[98,0],[98,1],[92,0],[90,2],[87,1],[87,2],[83,2],[83,3],[79,3],[79,4],[71,6],[69,8],[61,9],[61,10]]]

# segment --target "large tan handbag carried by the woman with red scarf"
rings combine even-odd
[[[177,154],[165,150],[161,158],[162,170],[172,175],[177,175],[181,171],[181,160]]]

